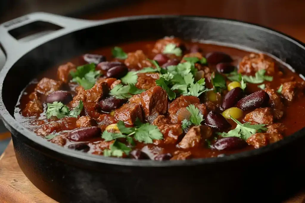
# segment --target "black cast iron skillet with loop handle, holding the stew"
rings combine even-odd
[[[63,27],[32,41],[8,30],[45,21]],[[276,31],[226,19],[135,16],[85,21],[32,13],[0,26],[7,60],[0,73],[0,114],[29,180],[59,202],[274,202],[304,181],[305,128],[267,147],[221,158],[156,162],[76,152],[52,144],[13,118],[19,93],[39,72],[92,49],[159,39],[217,41],[270,53],[305,72],[304,44]],[[234,45],[232,45],[234,44]],[[303,118],[300,118],[303,119]]]

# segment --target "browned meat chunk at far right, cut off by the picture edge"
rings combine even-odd
[[[283,83],[282,95],[288,101],[292,101],[295,97],[303,96],[305,82],[285,82]]]

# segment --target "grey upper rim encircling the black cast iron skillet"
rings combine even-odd
[[[173,166],[194,166],[194,165],[203,165],[203,164],[214,164],[214,163],[228,163],[232,161],[236,161],[239,159],[243,158],[250,158],[253,156],[259,156],[262,154],[265,154],[267,152],[270,152],[272,150],[279,149],[280,147],[284,145],[288,145],[289,143],[294,142],[296,139],[300,138],[305,134],[305,127],[302,128],[301,130],[293,133],[289,137],[285,137],[285,139],[272,143],[270,145],[267,145],[265,147],[262,147],[260,149],[255,149],[255,150],[248,150],[245,152],[239,152],[235,154],[231,154],[229,156],[224,156],[224,157],[213,157],[213,158],[196,158],[196,159],[188,159],[188,160],[171,160],[171,161],[155,161],[155,160],[135,160],[135,159],[124,159],[124,158],[115,158],[115,157],[104,157],[101,155],[94,155],[94,154],[88,154],[84,152],[77,152],[71,149],[67,149],[64,147],[61,147],[59,145],[53,144],[51,142],[48,142],[47,140],[37,136],[34,132],[31,132],[24,128],[20,123],[18,123],[13,116],[11,116],[6,109],[3,100],[2,100],[2,88],[3,88],[3,82],[6,77],[6,74],[9,72],[9,70],[13,67],[13,65],[24,55],[26,55],[28,52],[32,51],[38,46],[41,46],[42,44],[45,44],[48,41],[51,41],[53,39],[59,38],[61,36],[64,36],[69,33],[73,33],[77,30],[83,30],[89,27],[94,27],[94,26],[102,26],[104,24],[109,24],[109,23],[117,23],[117,22],[124,22],[124,21],[131,21],[131,20],[145,20],[145,19],[191,19],[191,20],[208,20],[210,22],[213,21],[218,21],[226,24],[235,24],[239,26],[246,26],[246,27],[252,27],[258,30],[263,30],[267,33],[270,34],[275,34],[278,35],[279,37],[282,37],[284,40],[289,40],[292,43],[296,44],[300,48],[302,48],[305,51],[305,44],[301,42],[300,40],[297,40],[289,35],[286,35],[282,32],[270,29],[265,26],[260,26],[255,23],[247,23],[244,21],[240,20],[235,20],[235,19],[225,19],[225,18],[215,18],[215,17],[208,17],[208,16],[192,16],[192,15],[140,15],[140,16],[126,16],[126,17],[119,17],[119,18],[111,18],[111,19],[106,19],[106,20],[98,20],[98,21],[92,21],[95,23],[92,23],[92,25],[89,26],[84,26],[79,29],[75,30],[70,30],[68,32],[61,33],[60,35],[55,35],[52,36],[50,34],[49,38],[45,40],[43,43],[38,43],[34,46],[32,46],[29,50],[26,51],[26,53],[21,54],[18,59],[16,59],[12,65],[7,65],[7,63],[4,65],[0,72],[0,116],[4,123],[9,126],[10,132],[13,130],[17,131],[18,134],[21,134],[22,136],[27,138],[27,141],[22,140],[22,142],[25,142],[27,145],[36,148],[35,145],[39,145],[40,147],[43,147],[42,149],[37,149],[40,153],[44,153],[46,156],[52,157],[53,159],[58,159],[58,156],[63,156],[64,157],[64,162],[68,162],[66,160],[67,158],[71,157],[72,159],[72,164],[76,163],[75,160],[81,159],[80,161],[85,161],[85,162],[92,162],[92,163],[104,163],[104,164],[111,164],[111,165],[120,165],[120,166],[133,166],[133,167],[173,167]],[[77,20],[77,19],[75,19]],[[249,47],[251,48],[251,47]],[[13,128],[13,130],[12,130]],[[13,135],[13,133],[12,133]],[[13,135],[18,138],[20,135]],[[47,148],[48,150],[52,150],[53,152],[56,152],[58,154],[48,154],[44,152]],[[75,160],[74,160],[75,159]],[[83,162],[84,165],[86,163]],[[79,166],[79,165],[78,165]]]

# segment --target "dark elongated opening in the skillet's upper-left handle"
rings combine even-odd
[[[9,30],[9,34],[12,35],[16,40],[23,39],[22,41],[30,41],[62,28],[63,27],[49,22],[35,21],[21,27],[17,27],[13,30]]]

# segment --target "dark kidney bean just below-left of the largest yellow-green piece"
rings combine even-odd
[[[216,111],[210,111],[207,114],[206,124],[211,126],[212,128],[216,128],[219,131],[225,130],[231,126],[228,121]]]

